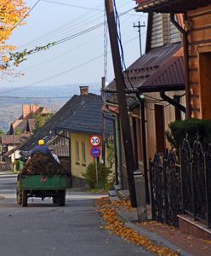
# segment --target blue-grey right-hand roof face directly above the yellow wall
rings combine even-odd
[[[83,97],[77,109],[71,113],[56,129],[77,133],[102,134],[102,98],[91,95]],[[111,122],[106,122],[107,133],[111,132]]]

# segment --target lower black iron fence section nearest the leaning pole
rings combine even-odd
[[[182,211],[180,166],[176,155],[169,151],[164,156],[156,154],[150,161],[152,218],[178,226],[177,214]]]

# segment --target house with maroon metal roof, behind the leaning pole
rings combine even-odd
[[[169,147],[165,137],[168,124],[175,119],[185,119],[186,111],[181,37],[170,22],[170,15],[148,15],[145,55],[124,71],[124,77],[135,165],[145,172],[146,195],[149,196],[148,160],[157,151],[163,154]],[[107,112],[117,116],[115,80],[104,92]],[[118,157],[123,162],[123,170],[119,170],[123,172],[123,189],[128,189],[124,155],[118,154]]]

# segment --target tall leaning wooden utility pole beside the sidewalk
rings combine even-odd
[[[118,39],[117,39],[117,24],[115,22],[114,9],[113,9],[113,0],[105,0],[106,4],[106,15],[107,22],[109,28],[110,35],[110,43],[111,43],[111,53],[113,60],[113,67],[115,73],[115,81],[117,88],[117,101],[119,106],[119,116],[121,120],[121,126],[123,131],[123,146],[125,153],[125,161],[127,166],[127,174],[128,174],[128,189],[130,195],[130,201],[132,207],[136,207],[136,195],[135,195],[135,187],[134,187],[134,151],[132,138],[130,133],[130,125],[128,118],[128,108],[125,94],[125,81],[123,77],[123,68],[121,66],[120,52],[118,47]]]

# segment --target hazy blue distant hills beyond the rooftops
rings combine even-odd
[[[0,88],[0,129],[3,129],[4,131],[9,130],[9,125],[14,121],[14,119],[18,119],[20,117],[23,104],[36,103],[42,107],[48,108],[51,111],[57,111],[71,98],[71,96],[80,94],[80,85],[88,85],[89,92],[100,94],[100,84],[97,83],[77,85],[61,84],[58,86],[45,85],[19,90],[16,90],[16,88]],[[9,90],[11,90],[11,92],[4,93],[5,91]],[[15,96],[20,98],[7,98],[3,96]]]

